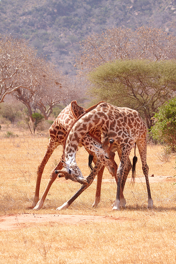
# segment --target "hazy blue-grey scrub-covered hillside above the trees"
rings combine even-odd
[[[79,41],[109,27],[153,26],[176,35],[176,0],[1,0],[0,33],[29,40],[75,75]]]

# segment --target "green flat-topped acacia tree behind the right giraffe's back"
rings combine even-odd
[[[91,96],[136,109],[148,128],[158,107],[176,95],[175,60],[116,60],[97,67],[89,76]]]

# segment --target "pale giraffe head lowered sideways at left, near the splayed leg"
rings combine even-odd
[[[64,160],[60,159],[63,164],[62,170],[55,170],[55,174],[60,173],[59,177],[65,177],[66,180],[70,179],[73,182],[79,182],[81,184],[87,184],[87,180],[82,176],[79,167],[73,163],[66,163]],[[63,175],[63,176],[62,176]]]

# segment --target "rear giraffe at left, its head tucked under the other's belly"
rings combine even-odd
[[[61,113],[58,115],[57,119],[54,121],[52,126],[49,129],[50,132],[50,139],[47,145],[47,149],[45,151],[45,155],[43,157],[43,160],[41,161],[40,165],[38,166],[37,170],[37,181],[36,181],[36,187],[35,187],[35,195],[33,197],[33,203],[30,208],[39,210],[42,208],[43,203],[45,201],[45,198],[48,194],[48,191],[57,178],[57,175],[55,174],[55,170],[62,169],[62,163],[61,161],[57,164],[55,169],[51,172],[50,177],[49,177],[49,182],[48,185],[39,201],[39,189],[40,189],[40,182],[41,182],[41,177],[42,173],[44,170],[44,167],[46,163],[48,162],[50,156],[52,155],[53,151],[55,148],[57,148],[58,145],[64,145],[64,140],[67,134],[67,131],[69,128],[73,125],[74,120],[76,120],[77,117],[81,116],[85,112],[86,109],[80,107],[76,101],[72,101],[71,104],[69,104],[65,109],[61,111]],[[88,153],[93,155],[93,161],[94,164],[97,162],[97,156],[95,155],[94,152],[98,151],[97,155],[100,160],[104,159],[104,165],[106,167],[109,167],[110,173],[113,175],[114,173],[114,155],[110,150],[110,147],[102,145],[100,138],[101,138],[101,131],[99,129],[93,129],[91,131],[92,133],[87,134],[79,146],[84,146],[85,149],[88,151]],[[98,138],[96,138],[96,136]],[[94,152],[91,151],[94,150]],[[63,160],[62,160],[63,162]],[[117,166],[117,165],[115,165]],[[102,181],[102,175],[104,171],[104,166],[100,169],[99,172],[97,172],[97,190],[96,190],[96,196],[95,196],[95,201],[93,203],[93,207],[97,206],[98,203],[100,202],[100,195],[101,195],[101,181]],[[66,179],[69,178],[69,174],[65,175]],[[116,178],[116,177],[115,177]],[[74,180],[74,179],[72,179]],[[77,177],[75,178],[77,180]],[[117,178],[116,178],[117,181]],[[79,182],[81,183],[86,183],[86,180],[82,177],[82,174],[79,177]],[[121,191],[121,206],[125,206],[126,200],[123,197],[123,192]]]

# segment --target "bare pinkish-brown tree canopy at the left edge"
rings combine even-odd
[[[65,77],[26,40],[0,36],[0,103],[7,94],[25,104],[34,122],[33,112],[48,119],[54,106],[76,96],[76,87],[67,87]]]

